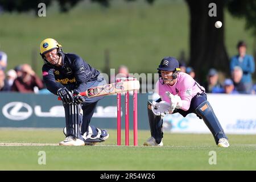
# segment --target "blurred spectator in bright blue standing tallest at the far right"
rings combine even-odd
[[[253,56],[246,54],[246,43],[243,41],[237,44],[238,55],[233,56],[230,61],[230,70],[233,72],[234,67],[239,66],[242,68],[243,76],[241,82],[245,85],[246,93],[250,93],[253,81],[251,74],[255,71],[255,63]]]

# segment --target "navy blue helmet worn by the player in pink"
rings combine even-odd
[[[175,57],[164,57],[158,66],[158,71],[180,71],[179,61]]]

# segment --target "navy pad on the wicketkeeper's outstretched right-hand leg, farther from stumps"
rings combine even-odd
[[[205,124],[212,132],[216,144],[218,144],[218,140],[221,138],[228,139],[208,101],[204,101],[196,108],[196,114],[203,118]]]

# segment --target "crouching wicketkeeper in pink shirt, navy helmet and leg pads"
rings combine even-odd
[[[203,86],[187,73],[180,72],[179,62],[174,57],[164,57],[158,67],[158,73],[159,80],[156,82],[155,92],[160,98],[153,104],[148,101],[151,137],[144,145],[163,146],[162,117],[165,114],[180,113],[186,117],[189,113],[195,113],[200,119],[203,118],[217,146],[229,147],[228,137],[207,101]]]

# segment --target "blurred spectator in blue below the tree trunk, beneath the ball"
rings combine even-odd
[[[223,88],[218,81],[218,72],[211,68],[207,75],[207,82],[204,84],[206,93],[223,93]]]

